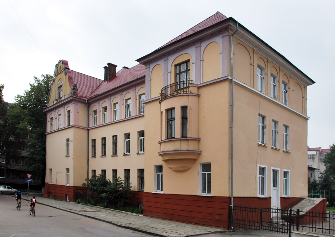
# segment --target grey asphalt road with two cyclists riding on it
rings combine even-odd
[[[36,215],[29,215],[29,204],[22,200],[21,211],[14,197],[0,194],[0,237],[143,237],[149,236],[55,208],[36,204]]]

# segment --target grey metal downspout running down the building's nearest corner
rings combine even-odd
[[[236,23],[236,30],[230,35],[231,53],[231,141],[230,141],[230,221],[229,228],[232,230],[233,218],[233,148],[234,148],[234,60],[232,51],[232,36],[239,30],[239,22]]]

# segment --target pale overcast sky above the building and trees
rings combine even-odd
[[[335,1],[23,1],[0,0],[0,84],[14,102],[64,59],[104,79],[107,63],[132,67],[216,11],[233,17],[312,78],[308,145],[335,143]],[[333,102],[331,102],[333,101]]]

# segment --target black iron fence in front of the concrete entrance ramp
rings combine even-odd
[[[313,212],[299,209],[233,207],[232,226],[289,234],[306,231],[335,234],[335,212]]]

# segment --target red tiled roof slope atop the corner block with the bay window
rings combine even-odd
[[[167,46],[167,45],[170,45],[171,43],[177,41],[177,40],[180,40],[190,34],[193,34],[199,30],[202,30],[208,26],[211,26],[217,22],[220,22],[224,19],[227,19],[227,17],[225,15],[223,15],[222,13],[220,12],[216,12],[214,15],[208,17],[206,20],[200,22],[199,24],[197,24],[196,26],[193,26],[191,29],[185,31],[184,33],[182,33],[181,35],[177,36],[176,38],[174,38],[172,41],[166,43],[165,45],[163,45],[162,47],[159,47],[158,49],[160,48],[163,48],[164,46]]]

